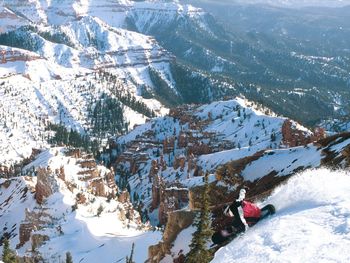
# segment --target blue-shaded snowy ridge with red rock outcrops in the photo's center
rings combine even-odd
[[[133,192],[144,196],[142,202],[147,207],[154,201],[148,190],[157,183],[157,177],[165,185],[178,181],[191,188],[198,183],[196,176],[215,172],[229,161],[317,138],[293,121],[265,115],[263,108],[250,108],[248,104],[236,99],[172,109],[169,116],[119,137],[106,162],[115,167],[117,177],[128,179]],[[298,134],[296,141],[292,134],[288,138],[292,131]]]

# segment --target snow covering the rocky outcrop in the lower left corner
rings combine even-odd
[[[14,178],[9,181],[9,186],[6,186],[6,181],[2,182],[0,206],[3,213],[0,215],[0,227],[2,234],[10,233],[11,247],[19,244],[20,224],[28,220],[31,222],[26,213],[33,213],[41,221],[32,236],[40,234],[49,238],[48,242],[36,249],[49,262],[64,258],[67,251],[72,253],[74,261],[79,262],[124,260],[130,254],[132,243],[135,243],[136,262],[143,262],[147,258],[148,246],[160,240],[160,233],[148,231],[149,227],[138,221],[136,211],[132,212],[128,220],[125,214],[130,211],[128,209],[132,209],[129,202],[119,202],[118,199],[107,201],[105,197],[94,195],[89,188],[90,180],[81,179],[81,172],[84,171],[79,165],[81,159],[69,157],[65,151],[62,148],[44,151],[24,168],[28,174],[39,167],[50,167],[52,171],[63,167],[65,171],[64,180],[55,176],[57,191],[42,205],[34,200],[37,177]],[[97,169],[101,177],[109,172],[102,166]],[[112,190],[107,185],[105,189]],[[78,204],[73,211],[78,193],[83,194],[87,201]],[[97,217],[99,206],[103,207],[103,211]],[[17,252],[20,256],[30,256],[31,247],[31,242],[26,242]]]

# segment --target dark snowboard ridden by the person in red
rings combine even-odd
[[[261,208],[261,216],[257,222],[265,219],[266,217],[268,217],[270,215],[273,215],[275,213],[275,211],[276,211],[275,207],[271,204],[264,206],[263,208]],[[253,225],[250,225],[250,227],[252,227],[252,226]],[[215,246],[215,245],[223,246],[241,234],[243,234],[242,230],[235,229],[232,226],[228,226],[222,230],[215,232],[213,234],[211,240],[213,241],[213,246]]]

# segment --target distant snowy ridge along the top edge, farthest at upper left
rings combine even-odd
[[[128,0],[78,0],[78,1],[20,1],[4,0],[4,5],[27,21],[60,25],[74,21],[81,16],[99,17],[114,27],[123,27],[126,18],[133,12],[157,11],[165,16],[169,14],[192,15],[202,12],[191,5],[180,5],[177,1],[141,1]]]

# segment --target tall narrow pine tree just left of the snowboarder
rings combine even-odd
[[[201,208],[199,217],[197,217],[194,223],[194,225],[197,227],[197,230],[193,234],[190,244],[191,251],[187,255],[185,261],[186,263],[207,263],[211,260],[211,254],[207,249],[207,243],[213,234],[209,212],[208,174],[205,175],[204,182],[205,185],[202,194],[203,206]]]

